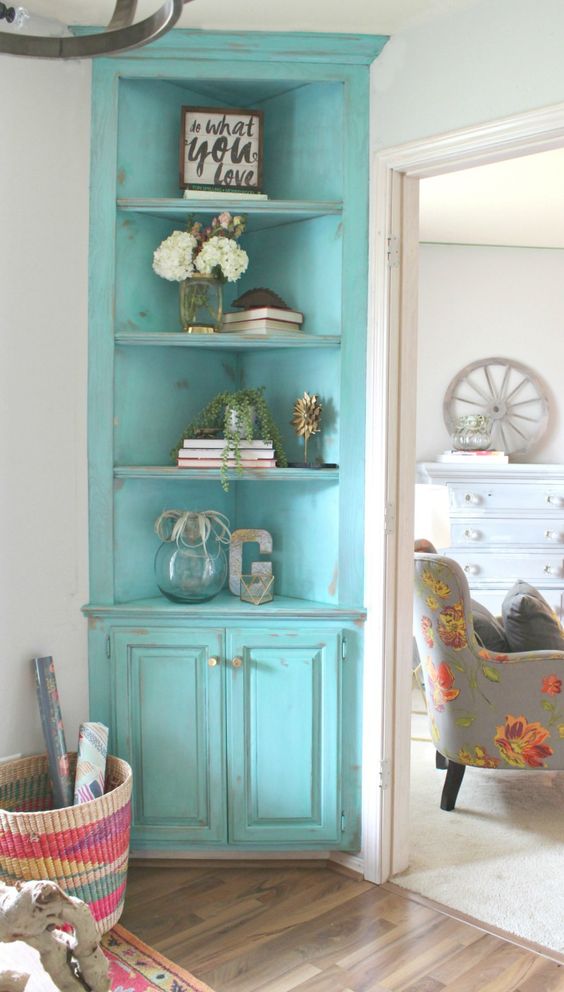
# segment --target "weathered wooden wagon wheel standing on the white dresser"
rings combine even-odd
[[[464,414],[492,420],[491,447],[508,455],[524,455],[548,425],[549,404],[539,377],[520,362],[484,358],[461,369],[443,403],[449,434]]]

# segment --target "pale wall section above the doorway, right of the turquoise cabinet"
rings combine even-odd
[[[376,148],[564,101],[562,0],[482,0],[401,31],[373,70]]]

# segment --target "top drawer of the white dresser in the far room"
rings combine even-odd
[[[564,487],[547,483],[449,482],[453,510],[554,510],[564,512]]]

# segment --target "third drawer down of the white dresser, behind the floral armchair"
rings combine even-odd
[[[475,548],[450,548],[445,554],[458,562],[470,585],[475,581],[503,581],[509,588],[517,579],[525,579],[534,585],[539,580],[550,582],[551,579],[564,578],[562,552],[499,554]]]

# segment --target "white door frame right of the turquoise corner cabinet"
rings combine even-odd
[[[419,179],[562,146],[558,104],[376,152],[371,162],[363,866],[373,882],[402,871],[409,856]]]

